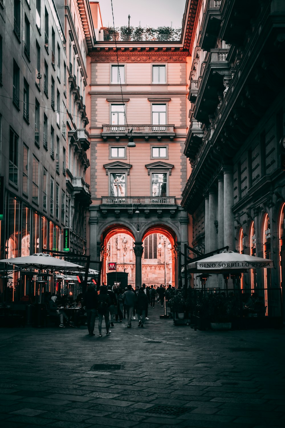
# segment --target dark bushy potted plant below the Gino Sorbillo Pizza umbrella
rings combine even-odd
[[[200,318],[210,324],[212,330],[230,330],[232,306],[225,293],[205,293],[197,304]]]

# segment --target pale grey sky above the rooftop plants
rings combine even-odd
[[[185,0],[112,0],[115,27],[181,27]],[[104,27],[113,25],[111,0],[99,0]]]

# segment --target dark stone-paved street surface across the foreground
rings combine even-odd
[[[1,328],[1,427],[285,426],[284,329],[194,331],[161,313],[102,338]]]

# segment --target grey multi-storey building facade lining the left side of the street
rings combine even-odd
[[[64,228],[70,250],[86,251],[86,16],[83,0],[0,2],[1,259],[62,251]]]

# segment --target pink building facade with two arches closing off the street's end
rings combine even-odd
[[[134,255],[132,283],[141,285],[146,282],[142,277],[145,239],[152,236],[151,245],[157,250],[153,236],[163,235],[171,247],[174,285],[177,253],[188,243],[188,215],[181,207],[187,179],[183,155],[187,51],[180,40],[115,43],[104,40],[101,31],[88,65],[91,259],[102,258],[105,282],[109,240],[117,234],[127,236]],[[128,146],[132,140],[135,147]],[[160,241],[164,246],[166,241]],[[152,265],[153,259],[149,270]]]

